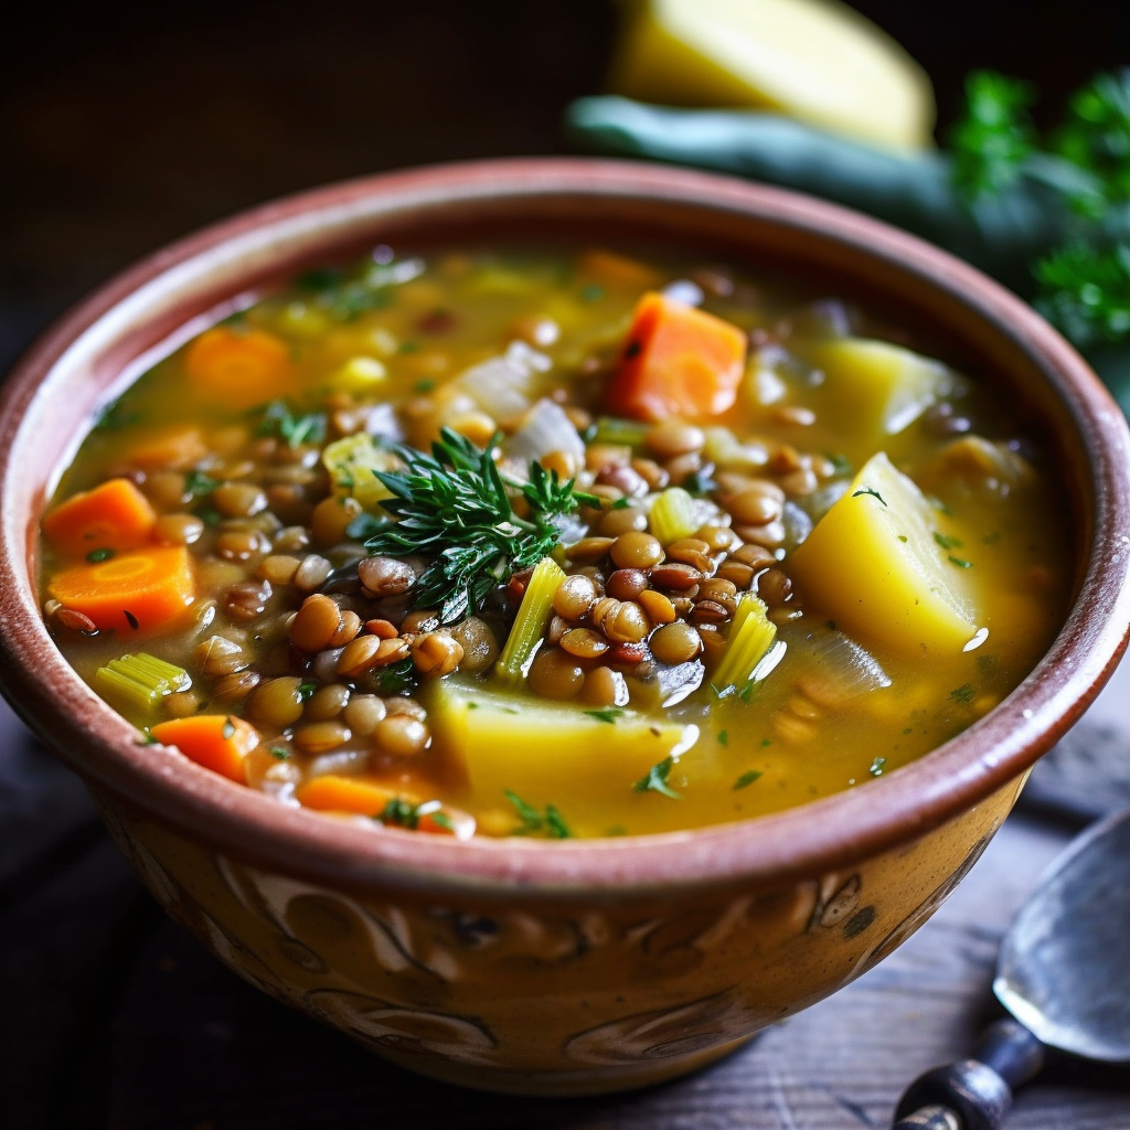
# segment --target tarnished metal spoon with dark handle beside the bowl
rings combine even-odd
[[[997,1130],[1048,1049],[1130,1063],[1130,810],[1084,832],[1008,929],[993,992],[1015,1019],[906,1089],[895,1130]]]

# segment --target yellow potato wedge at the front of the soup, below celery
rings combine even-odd
[[[610,788],[631,794],[653,765],[698,739],[696,725],[631,710],[523,701],[451,680],[431,689],[433,742],[476,796],[499,805],[508,790],[536,807],[582,811]]]

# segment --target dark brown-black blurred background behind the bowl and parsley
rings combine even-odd
[[[1125,0],[859,0],[933,78],[1037,82],[1051,114],[1130,63]],[[249,205],[406,165],[564,151],[614,0],[21,6],[0,35],[0,367],[133,259]],[[128,15],[129,14],[129,15]]]

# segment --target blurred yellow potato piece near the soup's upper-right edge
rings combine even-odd
[[[869,451],[905,431],[964,380],[939,360],[871,338],[805,342],[797,353],[824,372],[812,394],[817,415],[851,420],[853,435]]]

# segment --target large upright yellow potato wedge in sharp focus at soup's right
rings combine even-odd
[[[982,623],[974,564],[951,520],[880,452],[793,550],[790,572],[809,610],[877,649],[960,652]]]

